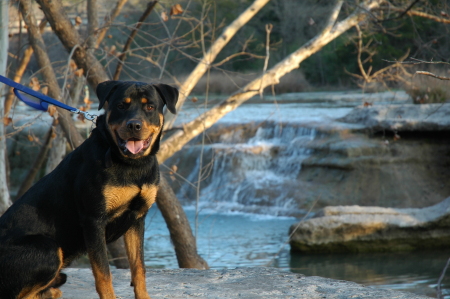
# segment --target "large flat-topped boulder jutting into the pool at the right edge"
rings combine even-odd
[[[290,228],[300,252],[369,252],[450,246],[450,197],[421,209],[336,206]]]

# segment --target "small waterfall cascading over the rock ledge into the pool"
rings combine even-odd
[[[249,129],[248,126],[255,126]],[[204,147],[200,207],[271,215],[296,215],[297,177],[310,154],[305,144],[316,131],[294,123],[249,123],[224,126]],[[249,133],[250,131],[250,133]],[[190,146],[196,158],[188,181],[198,180],[201,145]],[[183,184],[177,192],[184,202],[196,198],[196,189]]]

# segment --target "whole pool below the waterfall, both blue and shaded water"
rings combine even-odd
[[[195,211],[187,209],[194,227]],[[145,263],[153,268],[178,268],[164,219],[153,207],[147,216]],[[436,285],[450,251],[364,254],[290,253],[287,232],[298,220],[246,213],[200,214],[198,249],[213,269],[272,266],[308,276],[357,282],[436,297]],[[442,283],[450,298],[450,273]]]

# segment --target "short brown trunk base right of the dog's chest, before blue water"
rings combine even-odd
[[[209,269],[206,261],[197,253],[197,245],[189,221],[164,176],[161,176],[156,203],[170,231],[178,266],[180,268]]]

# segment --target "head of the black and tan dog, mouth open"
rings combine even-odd
[[[164,124],[163,108],[175,114],[178,90],[166,84],[105,81],[97,86],[99,110],[119,152],[137,159],[156,154]]]

